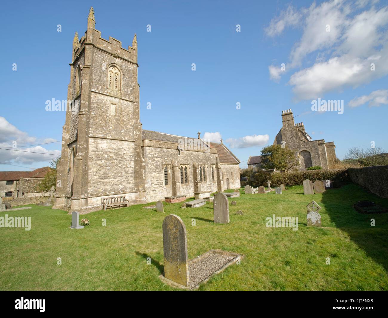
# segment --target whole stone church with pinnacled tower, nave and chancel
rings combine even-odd
[[[102,198],[130,203],[239,188],[239,160],[221,143],[143,130],[137,38],[101,38],[93,8],[85,35],[74,36],[68,103],[54,209],[101,209]],[[59,186],[60,185],[60,186]]]

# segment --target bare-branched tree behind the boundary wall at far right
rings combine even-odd
[[[364,150],[360,147],[353,147],[348,150],[346,159],[357,161],[362,167],[388,165],[388,154],[381,148],[369,148]]]

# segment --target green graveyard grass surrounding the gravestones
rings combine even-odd
[[[196,209],[165,203],[165,213],[146,205],[92,212],[80,215],[90,220],[80,230],[69,229],[71,215],[50,207],[1,212],[31,216],[31,231],[0,228],[0,290],[174,290],[158,278],[168,214],[185,223],[189,259],[210,249],[245,255],[199,290],[388,290],[388,214],[353,209],[357,200],[388,207],[386,199],[355,184],[315,195],[303,195],[302,186],[282,195],[241,193],[229,199],[237,201],[229,204],[230,224],[213,223],[212,203]],[[312,200],[322,208],[322,228],[307,227]],[[298,230],[267,228],[272,214],[298,216]]]

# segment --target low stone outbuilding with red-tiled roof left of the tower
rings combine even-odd
[[[0,196],[12,200],[47,195],[39,191],[37,185],[50,169],[43,167],[33,171],[0,171]]]

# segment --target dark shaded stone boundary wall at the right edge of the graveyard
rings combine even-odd
[[[350,181],[388,198],[388,165],[347,169]]]

